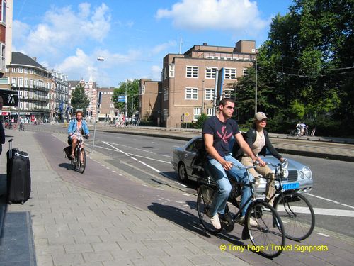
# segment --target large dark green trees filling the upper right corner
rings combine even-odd
[[[285,16],[273,18],[259,48],[257,109],[270,117],[268,130],[285,133],[299,119],[320,119],[317,133],[353,134],[354,1],[292,3]],[[254,65],[234,88],[239,118],[247,121],[254,113]]]

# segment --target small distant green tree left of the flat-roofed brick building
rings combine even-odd
[[[125,103],[118,102],[118,96],[124,97],[125,92],[127,92],[127,115],[132,116],[139,111],[139,79],[120,82],[119,87],[114,89],[112,101],[121,113],[125,113]]]

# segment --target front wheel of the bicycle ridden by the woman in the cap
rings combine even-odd
[[[314,231],[314,209],[302,194],[294,191],[280,194],[275,199],[274,209],[284,223],[287,238],[304,240]]]

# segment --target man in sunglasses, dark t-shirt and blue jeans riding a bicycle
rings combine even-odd
[[[215,199],[212,201],[212,208],[210,212],[210,222],[216,229],[221,228],[219,221],[220,217],[224,215],[224,209],[227,204],[227,199],[232,189],[232,185],[227,178],[227,173],[235,178],[238,182],[249,184],[249,179],[246,170],[239,170],[234,165],[243,167],[241,162],[232,157],[229,151],[229,140],[234,135],[235,140],[244,153],[251,157],[253,162],[258,161],[259,165],[264,166],[265,162],[253,154],[251,148],[242,137],[239,126],[236,121],[229,119],[234,113],[234,101],[232,99],[222,99],[219,103],[219,113],[212,116],[205,121],[202,128],[202,135],[205,143],[205,150],[207,151],[207,163],[205,170],[210,176],[215,179],[217,183],[217,193]],[[247,199],[251,196],[250,187],[243,186],[241,196],[241,206],[244,206]],[[249,204],[251,201],[249,202]],[[244,216],[248,206],[242,210],[239,222],[244,223]],[[250,221],[251,226],[256,226],[256,221]]]

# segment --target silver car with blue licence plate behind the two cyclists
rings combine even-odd
[[[234,145],[234,138],[230,141],[230,150]],[[197,136],[189,140],[183,147],[173,148],[172,165],[174,170],[178,173],[178,179],[181,182],[188,182],[188,180],[198,181],[204,177],[204,172],[199,167],[196,167],[195,159],[198,149],[202,148],[204,142],[202,136]],[[268,153],[266,156],[261,156],[264,162],[273,163],[277,165],[279,160]],[[287,159],[287,174],[285,179],[282,179],[284,189],[295,189],[300,193],[307,193],[311,191],[314,185],[312,179],[312,172],[306,165],[295,160]],[[269,165],[270,169],[275,171],[274,167]],[[261,184],[256,188],[257,197],[265,196],[265,179],[261,178]],[[275,183],[276,185],[276,183]]]

